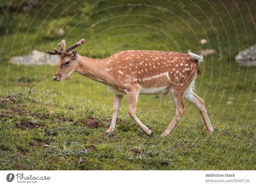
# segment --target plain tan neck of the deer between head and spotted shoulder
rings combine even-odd
[[[76,74],[81,74],[94,81],[105,83],[107,79],[104,73],[101,73],[106,62],[104,59],[92,59],[85,56],[78,55],[78,66],[76,67]]]

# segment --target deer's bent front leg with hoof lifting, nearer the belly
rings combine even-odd
[[[148,136],[152,136],[153,132],[148,129],[135,115],[136,105],[138,100],[139,89],[133,89],[132,91],[127,92],[128,96],[128,113],[130,117],[139,125],[141,130],[145,132]]]

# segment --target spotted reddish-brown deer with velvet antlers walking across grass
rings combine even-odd
[[[128,114],[148,136],[153,132],[146,127],[136,116],[138,95],[161,95],[166,99],[171,93],[176,111],[168,127],[161,136],[170,134],[172,128],[186,111],[184,100],[195,105],[200,111],[206,130],[213,132],[208,118],[204,100],[194,92],[196,75],[199,72],[199,63],[203,56],[192,53],[151,51],[151,50],[124,50],[109,58],[92,59],[79,55],[76,47],[82,45],[84,39],[65,50],[66,43],[62,40],[58,46],[60,50],[47,50],[51,55],[59,55],[58,69],[53,79],[61,81],[75,72],[94,81],[105,84],[114,93],[113,116],[107,133],[115,130],[117,113],[124,95],[128,97]]]

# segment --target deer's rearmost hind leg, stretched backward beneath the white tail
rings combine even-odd
[[[206,130],[208,133],[212,133],[213,128],[211,125],[211,122],[208,118],[205,106],[204,106],[204,100],[197,96],[191,88],[188,87],[188,89],[185,91],[185,94],[183,96],[186,100],[188,100],[188,102],[190,102],[191,104],[195,105],[196,108],[200,111],[203,120],[204,120],[204,124],[206,126]]]

